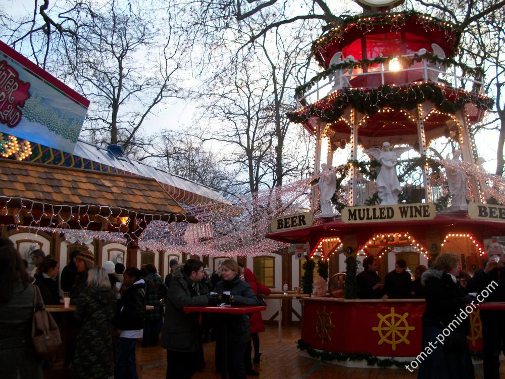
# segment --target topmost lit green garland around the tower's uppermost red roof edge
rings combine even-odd
[[[320,51],[325,49],[328,43],[332,40],[338,40],[342,37],[342,33],[351,26],[356,25],[358,28],[366,28],[366,30],[371,30],[375,25],[389,25],[391,27],[396,27],[399,29],[405,21],[410,18],[417,18],[420,23],[433,25],[439,30],[445,30],[448,33],[457,33],[457,38],[455,38],[455,46],[457,45],[459,39],[460,29],[445,20],[441,20],[425,13],[416,11],[406,11],[406,12],[393,12],[393,13],[374,13],[370,15],[356,15],[344,18],[338,23],[334,28],[332,28],[326,35],[322,36],[318,40],[314,41],[312,44],[312,54],[316,57],[318,63],[324,67],[324,62],[322,57],[318,54]]]

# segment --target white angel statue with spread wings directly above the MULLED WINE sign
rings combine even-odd
[[[371,155],[382,165],[379,175],[377,175],[377,191],[381,205],[398,204],[398,194],[401,191],[398,176],[396,176],[396,164],[400,155],[410,148],[394,148],[388,141],[382,144],[382,149],[371,148],[365,150],[365,153]]]

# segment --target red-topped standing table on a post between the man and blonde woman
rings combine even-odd
[[[223,315],[238,315],[246,314],[252,312],[261,312],[266,310],[267,307],[264,305],[234,305],[232,307],[183,307],[184,312],[206,312],[206,313],[221,313]],[[218,339],[221,339],[220,345],[220,355],[221,355],[221,377],[226,379],[228,376],[228,328],[226,327],[226,317],[220,320],[219,329],[222,333],[218,335]]]

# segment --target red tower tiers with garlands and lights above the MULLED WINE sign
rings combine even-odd
[[[382,7],[385,2],[370,0],[365,5],[373,3]],[[426,158],[430,141],[440,136],[456,141],[461,159],[475,165],[478,157],[470,126],[482,120],[492,100],[482,93],[482,70],[453,59],[460,31],[430,15],[380,10],[348,17],[313,43],[313,57],[323,71],[297,88],[297,109],[289,118],[316,137],[315,172],[321,163],[331,164],[333,153],[346,145],[349,161],[357,160],[359,145],[376,159],[380,150],[395,147],[401,147],[396,153],[414,149]],[[323,138],[328,141],[327,162],[321,162]],[[424,193],[418,201],[432,203],[425,162],[420,173]],[[364,205],[359,180],[354,165],[348,206]],[[475,177],[468,184],[466,196],[485,203],[484,184]],[[397,203],[397,196],[381,191],[379,199],[381,204]],[[449,210],[465,210],[465,204],[456,203],[453,196]]]

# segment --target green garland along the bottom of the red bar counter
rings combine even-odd
[[[391,366],[396,366],[400,368],[405,368],[406,365],[409,365],[410,361],[398,361],[392,358],[378,358],[375,355],[370,353],[333,353],[327,350],[316,350],[313,349],[308,343],[302,341],[301,339],[296,341],[296,348],[307,352],[312,358],[319,359],[321,362],[329,362],[333,360],[337,361],[358,361],[365,360],[367,361],[367,365],[373,366],[377,365],[381,368],[387,368]],[[481,360],[483,358],[482,351],[472,351],[470,350],[470,356],[475,359]]]

